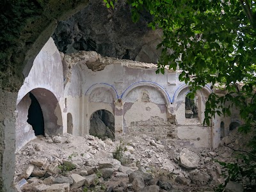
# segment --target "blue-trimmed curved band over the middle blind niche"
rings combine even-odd
[[[133,90],[134,88],[138,87],[138,86],[152,86],[154,88],[156,88],[157,90],[159,90],[163,95],[164,95],[164,99],[166,100],[166,104],[170,104],[171,99],[169,94],[166,92],[166,90],[164,90],[163,86],[161,86],[160,84],[151,82],[151,81],[138,81],[136,83],[132,83],[130,86],[128,86],[125,91],[122,93],[120,99],[124,99],[129,92],[131,92],[131,90]]]

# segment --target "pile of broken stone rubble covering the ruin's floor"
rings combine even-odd
[[[146,135],[123,136],[115,142],[67,133],[38,136],[17,152],[15,187],[47,192],[214,191],[224,171],[214,159],[228,158],[228,147],[175,147],[173,141]],[[240,184],[228,186],[239,189],[236,185]]]

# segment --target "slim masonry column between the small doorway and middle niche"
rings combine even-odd
[[[115,139],[120,140],[123,133],[124,105],[122,99],[115,101]]]

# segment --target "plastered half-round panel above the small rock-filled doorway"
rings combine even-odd
[[[113,103],[119,99],[115,88],[108,83],[96,83],[90,86],[85,93],[89,97],[89,102],[107,102]]]

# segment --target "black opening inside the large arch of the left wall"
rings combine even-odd
[[[44,116],[41,106],[36,99],[36,97],[29,92],[29,97],[31,99],[31,105],[28,109],[28,124],[33,127],[35,135],[44,135]]]

